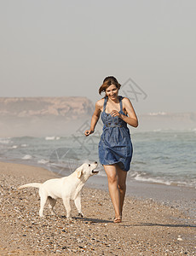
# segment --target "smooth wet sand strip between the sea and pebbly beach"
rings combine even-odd
[[[1,162],[43,168],[48,172],[54,173],[58,177],[62,177],[58,172],[49,170],[47,166],[39,164],[22,163],[20,160],[0,160],[0,163]],[[71,174],[70,170],[67,171],[66,175],[69,174]],[[108,192],[107,177],[100,176],[99,174],[89,178],[87,183],[85,183],[85,186],[91,189],[102,189]],[[196,223],[196,189],[194,187],[178,186],[173,184],[166,185],[164,183],[147,183],[143,181],[136,181],[134,179],[127,179],[125,196],[132,196],[139,200],[150,199],[170,207],[176,207],[189,215],[189,217]]]

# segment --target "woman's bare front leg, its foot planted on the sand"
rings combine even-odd
[[[119,218],[121,216],[121,208],[120,208],[120,193],[118,189],[117,165],[104,166],[104,169],[107,172],[108,189],[109,189],[109,193],[112,199],[112,204],[114,207],[115,218]]]

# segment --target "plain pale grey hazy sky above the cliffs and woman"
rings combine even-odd
[[[195,112],[195,14],[195,0],[0,0],[0,96],[95,102],[113,75],[137,113]]]

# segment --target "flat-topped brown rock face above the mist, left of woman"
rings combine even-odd
[[[0,117],[61,116],[77,119],[91,114],[93,109],[93,103],[85,97],[0,98]]]

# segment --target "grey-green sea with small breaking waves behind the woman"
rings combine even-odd
[[[137,180],[196,188],[195,129],[135,132],[131,138],[134,154],[128,185],[130,180]],[[66,176],[84,161],[99,162],[99,140],[99,133],[90,137],[80,133],[69,137],[0,138],[0,160],[43,166]],[[106,176],[101,165],[98,169],[100,176]]]

